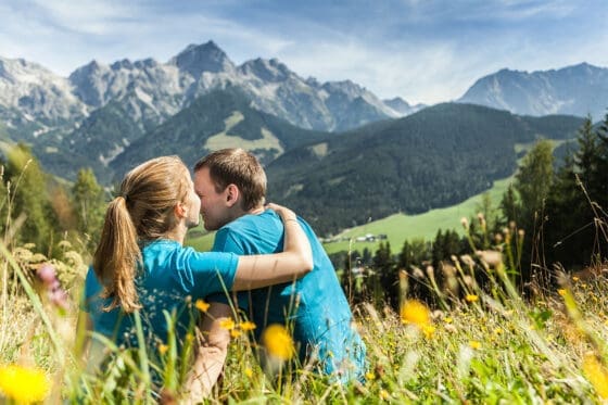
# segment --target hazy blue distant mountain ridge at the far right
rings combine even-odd
[[[502,69],[482,77],[458,102],[516,114],[570,114],[600,119],[608,106],[608,68],[582,63],[544,72]]]

